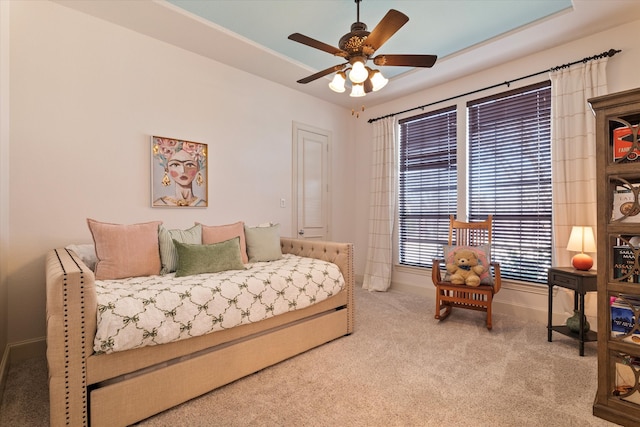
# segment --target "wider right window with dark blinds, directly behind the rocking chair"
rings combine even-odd
[[[491,255],[503,278],[545,283],[552,251],[550,83],[467,107],[469,219],[494,215]]]

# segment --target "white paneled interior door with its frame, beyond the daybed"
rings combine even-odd
[[[331,133],[294,123],[294,217],[298,238],[329,240]]]

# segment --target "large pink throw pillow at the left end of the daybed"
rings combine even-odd
[[[122,225],[88,218],[87,224],[96,246],[97,280],[160,274],[161,221]]]

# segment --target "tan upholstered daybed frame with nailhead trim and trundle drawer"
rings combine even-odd
[[[353,245],[280,240],[283,254],[336,264],[344,288],[309,307],[255,323],[106,354],[94,350],[94,272],[72,250],[50,251],[46,286],[51,425],[130,425],[350,334]]]

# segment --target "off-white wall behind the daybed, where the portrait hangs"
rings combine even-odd
[[[10,343],[45,335],[45,253],[90,242],[87,217],[291,235],[294,121],[332,132],[332,238],[353,241],[349,111],[50,2],[11,3],[10,46]],[[150,135],[209,144],[208,208],[149,207]]]

